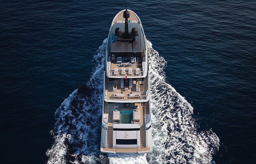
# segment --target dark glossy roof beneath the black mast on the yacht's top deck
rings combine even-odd
[[[119,36],[115,35],[115,29],[119,28],[121,31],[124,31],[125,23],[115,23],[112,26],[111,35],[110,35],[110,53],[133,53],[133,56],[141,56],[141,52],[143,51],[144,45],[144,36],[142,34],[142,30],[140,24],[138,23],[128,23],[128,31],[131,31],[133,28],[137,29],[137,35],[133,36],[135,40],[132,41],[133,38],[130,39],[122,39]],[[134,54],[135,53],[135,54]],[[127,54],[126,54],[127,55]]]

